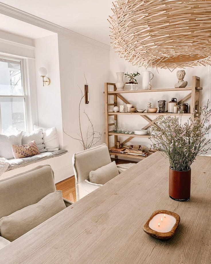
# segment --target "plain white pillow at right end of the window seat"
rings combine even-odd
[[[56,127],[45,128],[34,125],[34,130],[42,129],[44,131],[44,143],[48,151],[59,150],[58,133]]]

